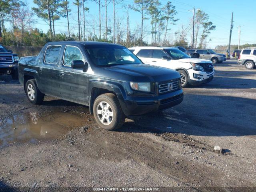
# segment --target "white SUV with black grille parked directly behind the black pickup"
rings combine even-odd
[[[145,64],[170,68],[180,73],[182,87],[210,82],[214,77],[212,62],[191,58],[174,47],[128,48]]]

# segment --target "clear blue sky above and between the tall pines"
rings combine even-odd
[[[104,0],[101,0],[102,4]],[[118,0],[116,0],[117,2]],[[30,7],[36,7],[33,0],[27,0]],[[70,0],[70,27],[71,32],[78,31],[77,25],[77,8],[73,5],[74,0]],[[162,4],[166,4],[167,0],[160,0]],[[255,8],[256,0],[171,0],[172,4],[176,6],[176,11],[178,14],[176,18],[179,20],[176,25],[170,26],[170,31],[168,31],[168,38],[171,40],[174,38],[174,33],[182,28],[183,26],[188,26],[193,16],[192,9],[200,8],[206,12],[209,16],[209,21],[216,25],[216,30],[212,31],[209,35],[208,48],[215,48],[217,45],[227,45],[230,33],[230,22],[231,15],[234,12],[233,20],[234,27],[232,30],[231,44],[238,44],[238,26],[241,26],[241,38],[240,45],[242,44],[252,44],[256,43],[256,22],[255,22]],[[122,8],[124,4],[132,4],[133,0],[124,0],[122,3],[116,5],[116,19],[122,20],[122,28],[126,28],[126,12],[128,8]],[[95,20],[95,25],[98,26],[98,4],[88,0],[86,5],[89,8],[89,12],[86,14],[86,28],[92,31],[93,20]],[[108,5],[108,18],[112,19],[113,8],[112,2]],[[129,10],[130,17],[130,28],[132,30],[136,29],[136,26],[140,26],[141,16],[140,13]],[[43,32],[47,32],[48,24],[42,21],[40,18],[34,16],[37,23],[33,24],[34,27],[39,28]],[[104,7],[102,7],[102,26],[105,25]],[[144,21],[146,30],[150,31],[150,20]],[[55,22],[56,32],[67,32],[67,20],[66,18],[61,18]],[[96,33],[98,28],[96,28]],[[102,28],[102,34],[104,28]],[[191,30],[192,33],[192,30]],[[190,42],[190,34],[187,36],[188,42]],[[145,37],[148,42],[151,39],[151,34]]]

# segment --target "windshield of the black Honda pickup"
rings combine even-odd
[[[87,45],[88,55],[95,66],[105,67],[142,62],[126,47],[118,45]]]

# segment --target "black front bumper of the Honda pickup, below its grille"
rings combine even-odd
[[[182,89],[155,97],[138,97],[125,100],[122,110],[126,116],[135,116],[164,110],[178,105],[183,100]]]

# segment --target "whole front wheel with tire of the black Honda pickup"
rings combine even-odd
[[[95,99],[93,115],[96,122],[108,131],[120,128],[125,121],[125,114],[117,97],[112,93],[102,94]]]

